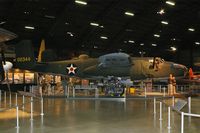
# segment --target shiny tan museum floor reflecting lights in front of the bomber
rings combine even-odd
[[[30,120],[30,104],[26,104],[24,110],[20,107],[20,128],[16,128],[15,109],[0,111],[0,133],[180,133],[181,115],[175,111],[171,112],[171,129],[167,128],[167,105],[163,105],[163,120],[160,121],[159,102],[154,115],[153,100],[125,101],[45,98],[44,116],[41,116],[40,101],[34,99],[33,120]],[[199,103],[199,98],[192,98],[192,113],[200,114]],[[9,106],[7,98],[6,102],[1,101],[0,109]],[[187,107],[183,111],[187,112]],[[186,117],[185,133],[198,133],[199,123],[200,118]]]

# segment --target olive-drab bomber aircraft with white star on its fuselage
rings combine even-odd
[[[30,41],[16,46],[16,66],[41,73],[75,76],[80,78],[106,78],[108,76],[142,80],[146,78],[184,77],[187,68],[161,58],[131,57],[126,53],[111,53],[99,58],[80,55],[76,59],[36,62]]]

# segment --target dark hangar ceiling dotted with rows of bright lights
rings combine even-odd
[[[200,1],[1,0],[0,27],[35,47],[159,56],[200,47]]]

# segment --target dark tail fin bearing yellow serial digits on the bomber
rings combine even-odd
[[[23,40],[16,45],[16,67],[32,69],[36,65],[34,49],[30,40]]]

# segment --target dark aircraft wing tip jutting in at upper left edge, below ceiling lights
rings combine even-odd
[[[12,40],[16,37],[17,37],[16,34],[10,32],[8,30],[0,28],[0,42],[6,42],[6,41]]]

